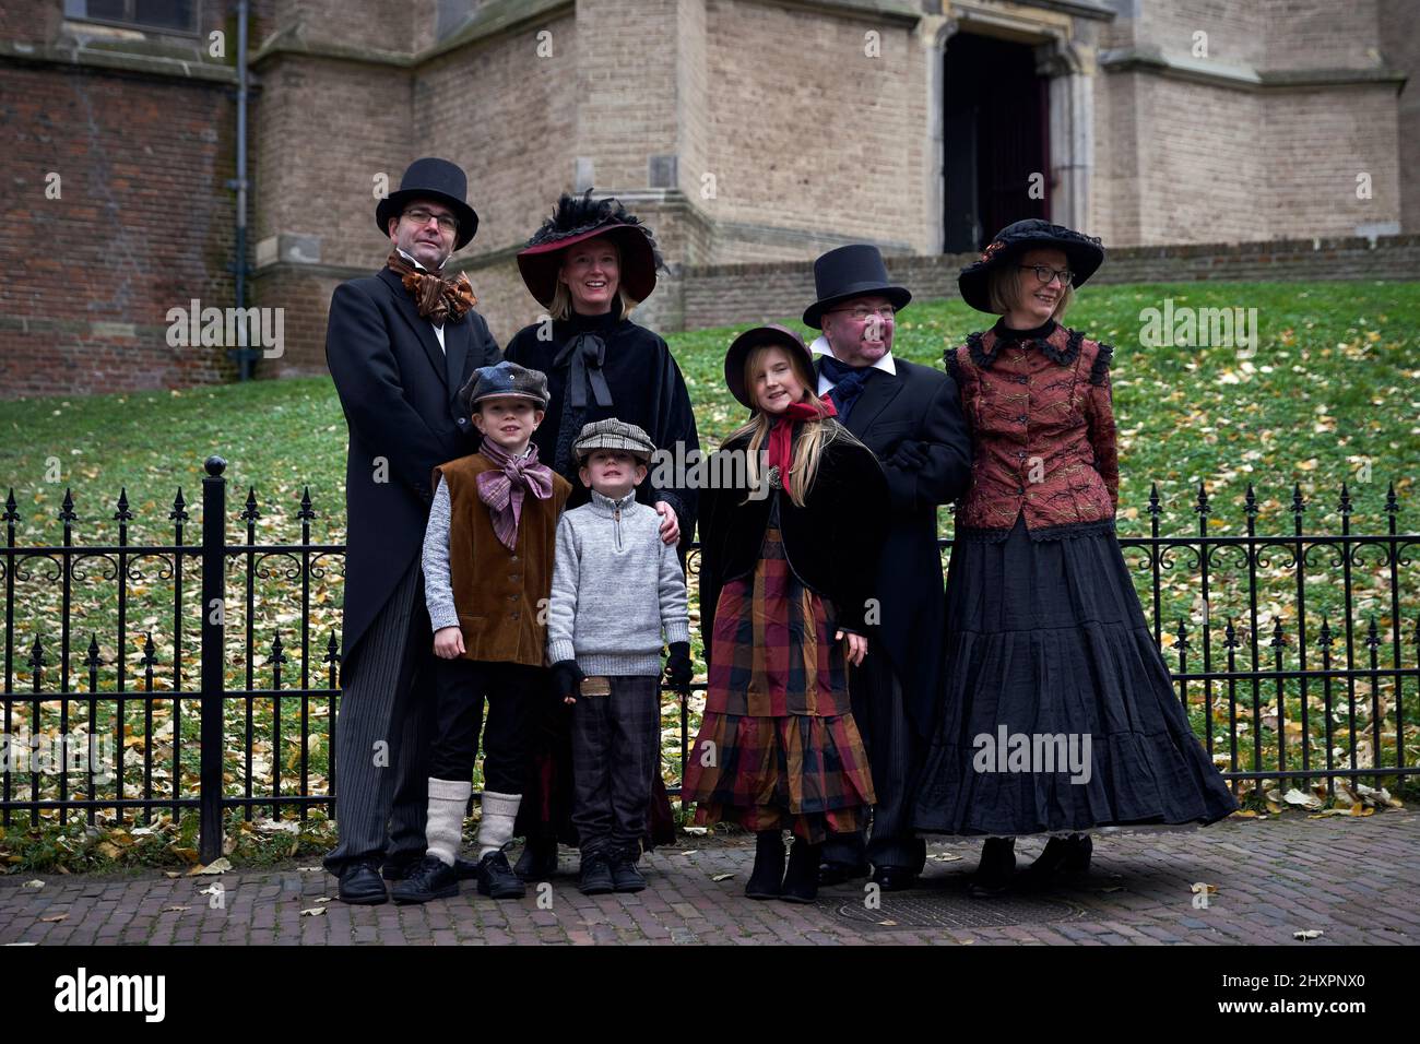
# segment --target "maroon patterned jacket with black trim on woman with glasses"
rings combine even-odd
[[[1055,526],[1115,517],[1113,351],[1054,321],[1028,331],[997,322],[947,349],[973,449],[958,530],[1004,537],[1024,511],[1039,540]]]

